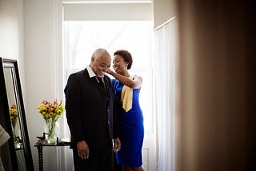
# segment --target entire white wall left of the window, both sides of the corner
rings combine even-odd
[[[54,2],[0,0],[0,57],[18,60],[35,170],[38,169],[38,152],[34,144],[36,136],[42,135],[44,125],[36,106],[43,99],[53,101],[56,97]],[[46,170],[56,170],[54,152],[44,149]]]

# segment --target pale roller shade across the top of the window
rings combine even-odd
[[[64,3],[64,21],[145,21],[153,19],[151,2]]]

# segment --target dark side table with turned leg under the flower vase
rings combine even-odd
[[[62,146],[69,146],[70,142],[59,142],[58,144],[43,144],[43,143],[36,143],[34,147],[38,148],[38,167],[39,171],[43,171],[43,155],[42,155],[42,147],[62,147]]]

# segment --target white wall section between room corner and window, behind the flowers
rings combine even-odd
[[[36,107],[46,99],[54,101],[62,86],[56,89],[58,74],[55,70],[58,50],[54,0],[24,0],[24,34],[26,62],[26,114],[30,133],[30,145],[34,168],[38,169],[36,136],[42,136],[45,121]],[[60,56],[61,57],[61,56]],[[60,61],[61,63],[61,61]],[[58,66],[57,66],[58,67]],[[57,154],[54,147],[43,149],[44,169],[57,170]]]

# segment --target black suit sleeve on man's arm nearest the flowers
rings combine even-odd
[[[71,141],[76,143],[84,141],[84,133],[82,128],[82,104],[81,104],[81,87],[78,82],[78,76],[70,75],[66,88],[66,120],[70,127]]]

